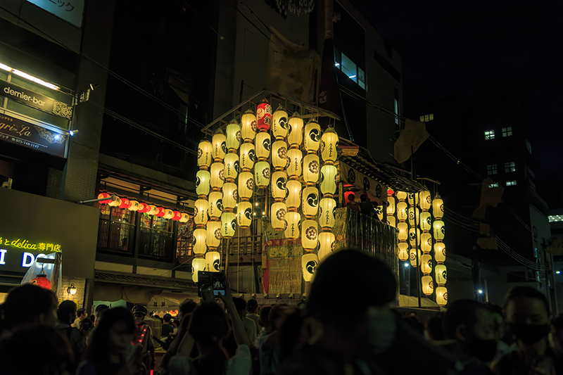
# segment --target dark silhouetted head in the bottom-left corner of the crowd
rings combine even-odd
[[[73,364],[68,341],[51,325],[15,328],[10,337],[0,341],[2,375],[74,375],[71,373]]]

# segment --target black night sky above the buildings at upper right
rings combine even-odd
[[[529,107],[542,174],[563,174],[563,1],[352,1],[403,59],[404,115],[416,120],[434,98],[510,89]]]

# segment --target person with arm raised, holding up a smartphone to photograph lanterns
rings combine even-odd
[[[231,288],[227,283],[225,295],[219,295],[227,307],[231,317],[232,331],[238,347],[233,357],[228,358],[222,346],[223,339],[228,336],[229,325],[224,310],[217,303],[205,302],[196,307],[192,315],[187,335],[179,345],[178,354],[168,364],[170,375],[190,374],[195,367],[198,375],[247,375],[251,369],[251,351],[248,336],[243,327],[239,312],[232,298]],[[189,355],[197,345],[201,355],[191,360]]]

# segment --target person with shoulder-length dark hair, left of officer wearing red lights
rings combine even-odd
[[[76,374],[146,375],[141,347],[132,345],[136,330],[133,315],[124,307],[104,312]]]

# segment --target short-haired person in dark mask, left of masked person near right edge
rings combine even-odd
[[[445,338],[459,345],[462,374],[491,374],[486,362],[497,352],[495,319],[488,306],[477,300],[455,300],[443,317]]]

